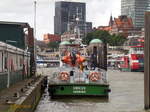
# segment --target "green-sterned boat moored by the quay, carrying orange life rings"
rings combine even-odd
[[[58,96],[104,96],[110,89],[107,81],[106,48],[101,40],[94,39],[83,55],[83,47],[75,42],[60,44],[61,66],[49,81],[49,95]],[[80,52],[81,51],[81,52]],[[85,51],[85,50],[84,50]]]

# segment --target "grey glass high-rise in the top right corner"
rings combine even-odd
[[[121,0],[121,15],[131,17],[135,27],[144,27],[145,11],[150,11],[150,0]]]

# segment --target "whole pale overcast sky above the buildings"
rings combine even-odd
[[[56,0],[37,0],[37,39],[54,32],[54,5]],[[60,1],[60,0],[57,0]],[[63,0],[69,1],[69,0]],[[108,25],[110,15],[120,15],[121,0],[70,0],[86,2],[87,21],[93,27]],[[1,0],[0,21],[28,22],[34,26],[34,0]]]

